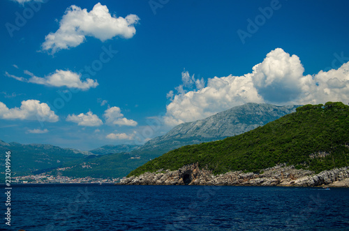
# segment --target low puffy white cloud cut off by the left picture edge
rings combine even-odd
[[[0,102],[0,118],[38,120],[52,123],[57,122],[59,119],[46,103],[40,103],[39,100],[22,101],[20,108],[14,107],[10,109]]]

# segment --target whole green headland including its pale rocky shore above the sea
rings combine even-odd
[[[169,151],[121,184],[349,186],[348,131],[347,105],[304,105],[242,135]]]

